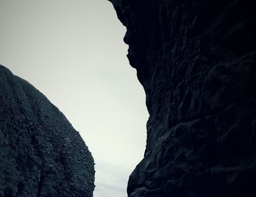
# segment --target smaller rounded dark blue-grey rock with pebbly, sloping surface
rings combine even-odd
[[[93,196],[94,160],[42,93],[0,66],[0,196]]]

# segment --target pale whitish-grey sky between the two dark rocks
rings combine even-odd
[[[110,2],[0,0],[0,26],[0,64],[45,94],[89,146],[94,196],[127,196],[148,112]]]

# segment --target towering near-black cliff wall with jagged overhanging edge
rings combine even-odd
[[[255,1],[111,1],[150,114],[128,195],[256,196]]]

